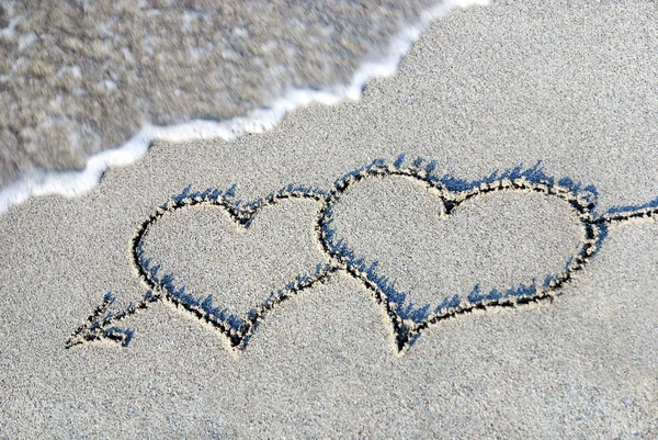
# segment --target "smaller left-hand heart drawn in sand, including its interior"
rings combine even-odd
[[[144,281],[241,347],[277,303],[330,270],[317,246],[319,193],[286,188],[241,205],[227,194],[183,192],[135,237]]]

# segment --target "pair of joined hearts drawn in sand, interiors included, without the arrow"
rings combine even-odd
[[[434,169],[400,156],[330,191],[290,185],[246,204],[235,189],[186,189],[144,223],[135,263],[151,297],[237,348],[281,303],[343,272],[374,296],[402,351],[441,319],[552,297],[598,250],[592,188],[540,165],[478,181]]]

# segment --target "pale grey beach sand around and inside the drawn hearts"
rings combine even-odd
[[[14,206],[0,217],[0,436],[658,436],[657,13],[640,1],[454,10],[359,102],[304,108],[234,142],[156,142],[88,195]],[[433,289],[462,295],[401,352],[392,308],[344,267],[291,290],[241,350],[166,298],[116,323],[134,330],[127,347],[65,349],[106,292],[116,311],[144,301],[133,237],[189,185],[245,212],[291,183],[324,194],[277,200],[247,229],[212,201],[164,210],[145,247],[197,297],[216,290],[248,313],[281,274],[349,267],[322,247],[318,213],[337,179],[378,158],[417,173],[434,160],[429,176],[451,188],[372,177],[333,205],[334,238],[381,261],[415,306],[434,309]],[[502,180],[487,178],[515,167],[535,172],[491,190]],[[463,187],[474,195],[450,208]],[[615,219],[615,206],[645,204],[651,215]],[[560,271],[546,300],[458,313],[474,280],[487,293],[535,278],[538,292]]]

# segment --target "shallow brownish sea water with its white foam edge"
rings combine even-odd
[[[155,138],[231,139],[356,100],[472,3],[0,0],[0,213],[84,193]]]

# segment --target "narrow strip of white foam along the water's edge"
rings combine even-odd
[[[214,122],[195,120],[169,126],[146,125],[133,138],[117,148],[94,155],[82,171],[34,171],[0,191],[0,214],[31,196],[61,194],[77,196],[91,191],[110,167],[124,167],[139,160],[155,139],[193,140],[207,138],[234,139],[247,133],[261,133],[274,127],[291,111],[310,103],[333,105],[343,100],[361,98],[366,82],[373,78],[389,77],[397,70],[400,59],[411,48],[432,20],[460,7],[486,5],[489,0],[447,0],[426,11],[420,21],[399,32],[390,42],[386,55],[364,63],[347,84],[336,84],[324,90],[296,89],[277,99],[269,108],[251,111],[245,116]]]

